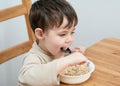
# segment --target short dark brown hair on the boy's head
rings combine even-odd
[[[43,31],[61,26],[63,18],[66,17],[68,24],[66,27],[77,25],[78,18],[73,7],[66,0],[37,0],[33,3],[29,20],[33,31],[41,28]]]

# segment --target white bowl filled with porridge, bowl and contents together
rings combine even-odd
[[[60,74],[60,81],[66,84],[85,82],[90,78],[94,69],[95,65],[90,60],[82,65],[69,66]]]

